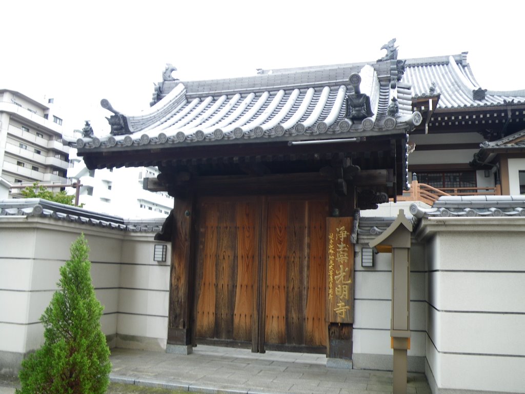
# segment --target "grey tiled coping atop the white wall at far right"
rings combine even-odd
[[[410,213],[422,217],[525,216],[525,195],[442,196],[432,208],[410,205]]]

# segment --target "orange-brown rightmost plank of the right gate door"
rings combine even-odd
[[[308,300],[306,304],[306,345],[327,346],[326,319],[326,217],[328,201],[312,201],[308,207]]]

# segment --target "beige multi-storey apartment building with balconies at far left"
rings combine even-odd
[[[0,89],[0,175],[10,183],[66,183],[69,147],[53,99]]]

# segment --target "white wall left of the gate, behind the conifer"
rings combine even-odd
[[[170,263],[153,262],[153,245],[159,243],[154,233],[0,216],[0,374],[16,372],[24,355],[43,344],[39,318],[81,232],[90,247],[93,286],[104,306],[101,326],[110,346],[165,349]]]

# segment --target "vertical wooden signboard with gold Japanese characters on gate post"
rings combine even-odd
[[[352,217],[327,217],[327,321],[354,321]]]

